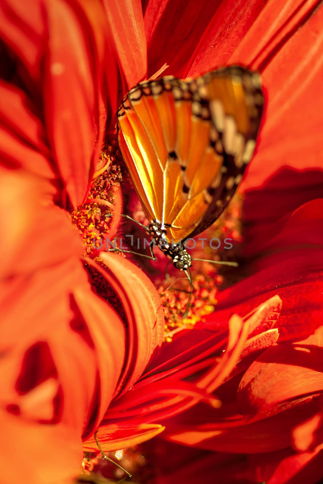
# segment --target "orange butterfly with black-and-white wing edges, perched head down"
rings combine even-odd
[[[234,195],[262,110],[259,74],[238,65],[196,79],[143,81],[124,96],[119,147],[150,221],[145,228],[177,269],[191,265],[185,241],[212,225]]]

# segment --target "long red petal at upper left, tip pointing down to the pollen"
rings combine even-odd
[[[43,81],[46,126],[74,208],[86,196],[103,139],[103,132],[97,134],[95,129],[102,107],[102,11],[99,3],[85,6],[76,2],[73,8],[65,3],[54,7],[48,2],[46,11],[50,52]]]

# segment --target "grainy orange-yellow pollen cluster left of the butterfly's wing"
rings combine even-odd
[[[101,151],[97,164],[99,169],[92,181],[87,200],[71,214],[72,222],[85,244],[84,255],[93,254],[93,239],[97,241],[97,248],[100,248],[102,234],[108,232],[113,213],[114,188],[122,181],[119,165],[121,158],[115,142]]]

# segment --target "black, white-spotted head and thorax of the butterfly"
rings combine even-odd
[[[169,241],[167,237],[167,227],[153,220],[149,225],[149,231],[152,235],[156,246],[173,261],[174,267],[180,271],[186,270],[191,265],[191,256],[188,254],[183,243]]]

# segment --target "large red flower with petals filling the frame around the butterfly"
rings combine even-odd
[[[312,200],[319,187],[308,186],[321,168],[321,98],[313,105],[312,93],[321,89],[323,11],[319,2],[300,0],[142,5],[144,17],[140,2],[130,0],[104,1],[105,14],[101,3],[80,0],[3,6],[3,480],[74,475],[81,439],[96,451],[101,423],[105,450],[164,427],[165,438],[198,448],[190,459],[204,457],[207,477],[196,465],[169,483],[206,480],[211,471],[232,482],[232,467],[241,481],[286,482],[295,462],[301,469],[308,450],[322,444],[321,344],[313,336],[322,325],[322,236],[313,222],[321,221],[322,202]],[[99,153],[122,90],[165,63],[166,74],[196,76],[235,62],[258,68],[268,92],[258,152],[242,185],[251,225],[244,254],[261,258],[246,266],[253,275],[216,293],[217,311],[149,362],[164,325],[157,292],[122,257],[84,258],[69,214],[74,210],[86,241],[92,225],[95,234],[114,233],[106,208],[97,218],[91,212],[97,197],[93,185],[89,190],[94,172],[108,166]],[[282,183],[286,164],[294,175]],[[13,476],[17,442],[37,455],[37,465],[26,453],[23,474]],[[213,452],[212,464],[204,450]]]

